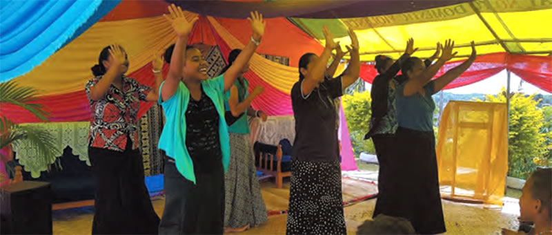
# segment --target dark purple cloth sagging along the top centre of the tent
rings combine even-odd
[[[212,17],[246,19],[249,12],[262,12],[266,18],[299,17],[333,19],[390,15],[414,10],[451,6],[471,0],[333,0],[333,1],[168,1],[182,9]]]

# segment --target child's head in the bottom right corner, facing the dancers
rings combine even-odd
[[[529,234],[552,234],[552,169],[533,171],[525,182],[520,198],[520,220],[531,221],[535,227]],[[502,234],[525,234],[502,229]]]

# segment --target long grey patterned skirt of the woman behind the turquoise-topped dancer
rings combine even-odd
[[[265,223],[266,207],[257,178],[249,134],[230,133],[230,163],[224,180],[226,186],[224,226],[255,227]]]

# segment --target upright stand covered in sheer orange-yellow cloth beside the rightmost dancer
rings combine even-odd
[[[451,101],[437,138],[442,196],[502,205],[508,172],[506,104]]]

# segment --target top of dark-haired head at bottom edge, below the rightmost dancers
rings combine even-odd
[[[366,220],[358,227],[357,235],[364,234],[416,234],[416,232],[406,218],[380,214],[374,220]]]

